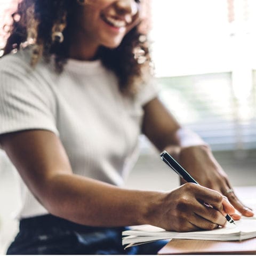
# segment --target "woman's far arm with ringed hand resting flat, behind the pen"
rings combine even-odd
[[[206,143],[187,146],[182,141],[186,137],[185,134],[183,138],[179,136],[180,125],[157,98],[148,102],[144,110],[142,131],[160,151],[169,151],[201,185],[227,196],[231,204],[243,215],[253,215],[234,193],[226,194],[231,188],[227,174],[215,160]],[[234,218],[238,219],[239,215],[234,215]]]

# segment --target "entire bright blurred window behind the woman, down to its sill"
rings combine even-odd
[[[256,1],[152,0],[161,99],[215,150],[256,148]]]

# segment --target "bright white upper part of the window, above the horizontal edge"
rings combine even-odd
[[[231,71],[245,51],[255,66],[255,0],[151,1],[158,77]]]

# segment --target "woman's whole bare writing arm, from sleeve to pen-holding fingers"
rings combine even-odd
[[[218,192],[194,184],[164,193],[122,189],[75,175],[59,138],[50,131],[9,133],[0,142],[38,201],[50,213],[83,225],[213,229],[225,225],[225,212],[233,212]]]

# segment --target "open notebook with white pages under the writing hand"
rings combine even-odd
[[[256,218],[242,218],[236,225],[228,223],[226,227],[214,230],[191,232],[166,231],[162,228],[143,225],[123,232],[123,245],[133,245],[153,242],[161,239],[197,239],[214,241],[242,241],[256,237]]]

